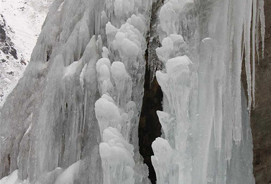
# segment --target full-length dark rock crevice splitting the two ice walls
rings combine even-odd
[[[152,183],[156,183],[155,169],[152,166],[151,156],[152,142],[161,135],[161,125],[156,111],[162,110],[162,90],[154,76],[155,70],[162,67],[155,49],[160,45],[157,35],[157,16],[164,0],[156,1],[152,4],[150,29],[147,34],[147,50],[145,52],[146,70],[144,83],[143,106],[140,113],[138,127],[139,151],[143,156],[144,163],[149,168],[149,178]],[[153,67],[152,65],[155,65]]]

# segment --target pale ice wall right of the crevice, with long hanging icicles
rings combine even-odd
[[[157,26],[162,47],[156,49],[164,66],[156,72],[164,134],[152,144],[157,183],[255,183],[248,111],[259,21],[264,34],[261,6],[252,0],[164,1]],[[248,102],[241,92],[243,55]]]

